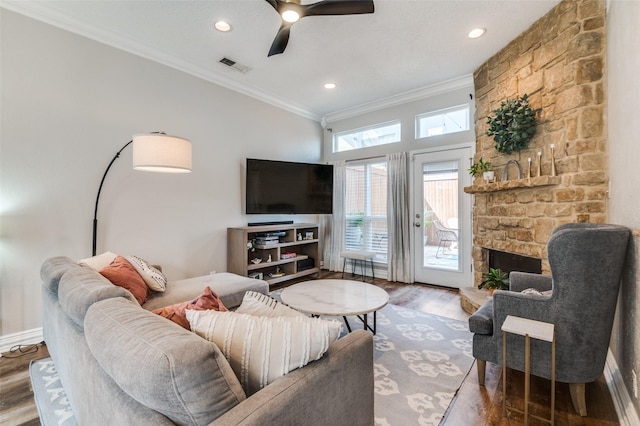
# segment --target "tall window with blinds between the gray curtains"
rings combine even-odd
[[[382,159],[347,164],[345,248],[374,251],[387,260],[387,162]]]

